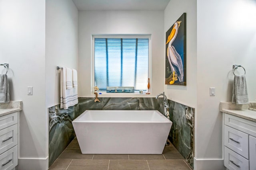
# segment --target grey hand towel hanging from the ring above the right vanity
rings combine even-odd
[[[249,100],[245,76],[235,75],[233,82],[232,103],[248,104],[248,102]]]

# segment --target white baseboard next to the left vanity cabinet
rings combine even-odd
[[[47,158],[18,158],[19,170],[48,170]]]

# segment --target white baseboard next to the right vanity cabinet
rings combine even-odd
[[[223,159],[196,159],[194,170],[226,170]]]

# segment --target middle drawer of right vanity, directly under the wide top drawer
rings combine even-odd
[[[238,154],[249,158],[249,135],[224,125],[224,145]]]

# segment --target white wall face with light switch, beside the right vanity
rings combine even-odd
[[[219,103],[231,102],[232,64],[245,67],[249,100],[255,102],[255,20],[255,1],[197,1],[197,160],[222,159]],[[216,88],[216,96],[209,96],[210,87]]]

